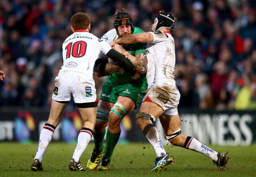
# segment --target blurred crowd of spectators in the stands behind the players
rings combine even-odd
[[[0,106],[50,107],[72,15],[85,12],[101,38],[122,8],[146,32],[162,9],[178,18],[179,108],[256,109],[256,0],[0,0]],[[95,77],[98,98],[105,80]]]

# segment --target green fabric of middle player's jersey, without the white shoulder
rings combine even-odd
[[[133,34],[138,34],[138,33],[144,33],[144,31],[141,30],[140,28],[134,27]],[[127,52],[129,52],[133,56],[140,53],[146,53],[143,43],[122,44],[122,46]],[[108,76],[107,82],[113,85],[141,83],[142,85],[145,85],[147,87],[146,74],[141,74],[141,77],[135,80],[135,79],[132,79],[131,74],[127,72],[124,72],[123,74],[118,74],[114,72],[113,74]]]

